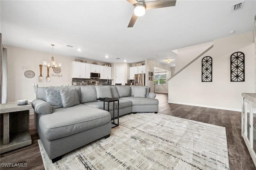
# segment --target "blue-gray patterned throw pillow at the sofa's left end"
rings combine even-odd
[[[45,87],[46,101],[50,103],[50,105],[52,106],[52,109],[63,107],[62,99],[60,95],[61,89],[62,88],[55,89],[55,88]]]

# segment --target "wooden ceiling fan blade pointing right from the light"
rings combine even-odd
[[[156,0],[145,2],[146,10],[175,6],[176,0]]]

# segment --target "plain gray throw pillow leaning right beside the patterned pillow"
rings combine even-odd
[[[61,89],[60,95],[62,99],[62,105],[64,108],[80,104],[78,92],[75,88]]]

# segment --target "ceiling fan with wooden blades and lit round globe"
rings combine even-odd
[[[145,2],[144,0],[127,0],[127,1],[134,6],[134,12],[128,24],[128,27],[133,27],[138,16],[143,16],[145,14],[145,10],[170,7],[170,6],[175,6],[176,4],[176,0],[154,0],[150,2]]]

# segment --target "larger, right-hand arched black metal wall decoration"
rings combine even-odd
[[[230,56],[230,81],[244,81],[244,53],[234,52]]]

